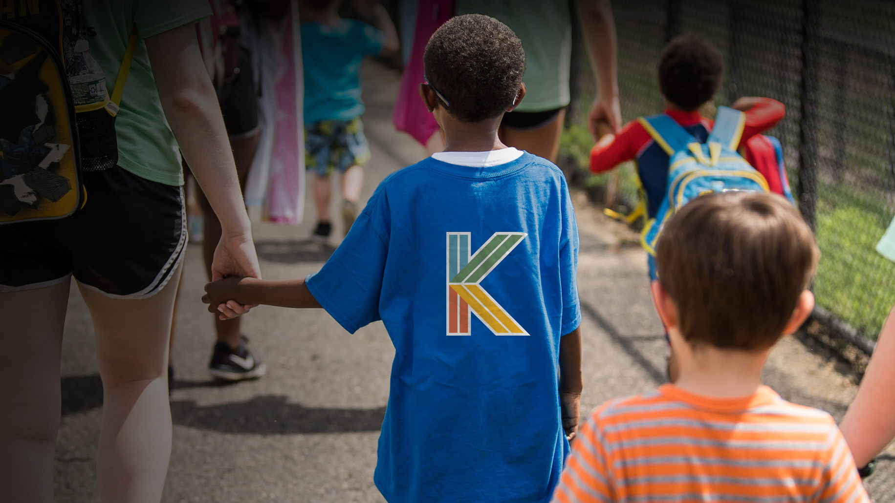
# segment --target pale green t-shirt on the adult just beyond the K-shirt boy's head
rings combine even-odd
[[[544,112],[568,105],[572,23],[568,3],[556,0],[456,0],[456,14],[484,14],[516,32],[525,49],[525,97],[517,112]]]

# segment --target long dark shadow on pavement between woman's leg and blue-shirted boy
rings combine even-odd
[[[222,433],[379,432],[385,415],[386,407],[309,408],[272,395],[208,407],[192,400],[171,402],[175,424]]]

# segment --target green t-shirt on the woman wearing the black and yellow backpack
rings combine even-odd
[[[143,39],[210,15],[208,0],[84,0],[82,32],[90,42],[90,55],[106,73],[108,96],[115,88],[131,30],[136,27],[140,33],[115,133],[118,165],[141,178],[183,185],[180,149],[158,101]]]

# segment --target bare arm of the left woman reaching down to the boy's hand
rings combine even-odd
[[[221,222],[212,280],[229,275],[260,278],[230,140],[196,30],[186,24],[146,38],[146,49],[167,122]]]

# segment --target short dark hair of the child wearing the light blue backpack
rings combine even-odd
[[[712,99],[724,77],[724,58],[708,40],[672,38],[659,57],[659,87],[665,99],[687,112]]]

